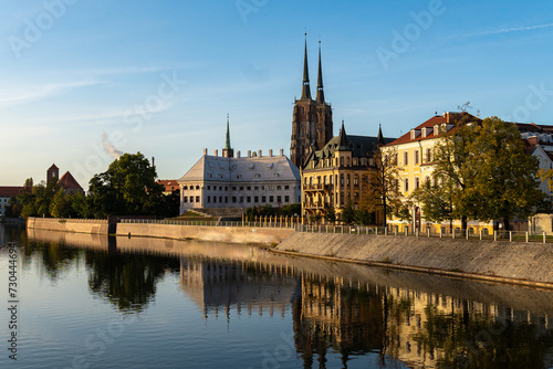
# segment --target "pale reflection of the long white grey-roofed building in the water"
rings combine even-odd
[[[231,308],[240,315],[257,310],[270,316],[278,312],[284,316],[286,307],[299,294],[299,282],[286,273],[274,273],[270,267],[244,262],[217,262],[180,259],[180,284],[185,293],[204,309],[218,317]]]

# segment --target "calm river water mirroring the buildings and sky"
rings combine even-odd
[[[551,291],[254,245],[1,224],[0,244],[1,368],[553,367]]]

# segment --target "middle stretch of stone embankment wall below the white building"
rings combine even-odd
[[[280,243],[294,233],[294,230],[249,228],[249,226],[202,226],[118,223],[117,235],[148,236],[176,240],[201,240],[231,243]]]

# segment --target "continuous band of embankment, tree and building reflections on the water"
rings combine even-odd
[[[85,264],[92,294],[143,312],[169,273],[204,319],[291,312],[304,368],[550,368],[553,292],[284,257],[255,246],[30,232],[51,281]],[[40,246],[42,245],[42,246]],[[361,358],[361,359],[359,359]]]

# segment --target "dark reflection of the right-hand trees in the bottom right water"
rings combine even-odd
[[[426,308],[428,320],[414,340],[426,351],[438,350],[438,368],[547,368],[553,331],[511,317],[465,312],[444,314]],[[550,362],[551,365],[551,362]]]

